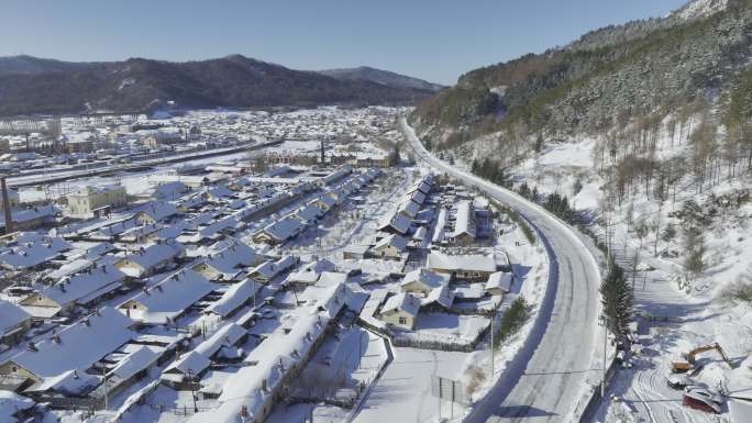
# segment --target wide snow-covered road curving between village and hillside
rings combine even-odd
[[[522,214],[550,255],[549,287],[530,337],[465,422],[566,422],[583,385],[597,381],[601,372],[590,367],[594,336],[602,333],[597,324],[600,274],[593,253],[543,208],[436,159],[405,119],[400,125],[419,158]]]

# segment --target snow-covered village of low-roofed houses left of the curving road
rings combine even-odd
[[[95,172],[157,134],[201,130],[133,170],[55,165],[51,183],[32,170],[47,155],[16,154],[0,252],[3,421],[465,413],[519,348],[491,331],[516,300],[540,300],[548,258],[511,211],[417,164],[401,113],[63,120],[100,140],[65,155]],[[159,129],[128,131],[140,126]],[[242,152],[185,159],[223,129],[248,134],[232,141]],[[455,404],[425,398],[438,380]]]

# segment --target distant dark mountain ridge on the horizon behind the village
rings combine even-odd
[[[133,110],[167,101],[181,108],[405,104],[431,93],[289,69],[242,55],[184,63],[0,57],[0,115]]]

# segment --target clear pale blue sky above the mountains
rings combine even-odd
[[[0,56],[189,60],[240,53],[296,69],[368,65],[453,84],[685,0],[3,0]]]

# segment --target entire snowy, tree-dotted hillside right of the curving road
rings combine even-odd
[[[627,353],[593,421],[715,422],[665,381],[706,344],[734,363],[706,356],[693,380],[749,398],[751,29],[751,2],[693,1],[473,70],[410,116],[439,156],[577,225],[626,271],[651,354]]]

